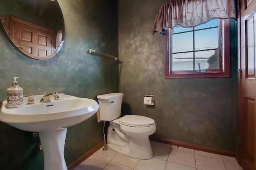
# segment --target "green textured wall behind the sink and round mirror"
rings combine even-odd
[[[65,22],[65,41],[52,59],[38,61],[21,54],[0,29],[0,102],[12,76],[26,94],[62,91],[92,98],[118,92],[118,63],[87,53],[89,48],[118,56],[117,0],[59,0]],[[110,19],[110,20],[109,20]],[[68,128],[64,155],[67,165],[103,141],[102,123],[96,115]],[[43,170],[39,139],[0,122],[0,169]]]

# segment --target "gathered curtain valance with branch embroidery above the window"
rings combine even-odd
[[[152,34],[166,28],[194,27],[214,18],[235,19],[235,0],[170,0],[162,3],[152,27]]]

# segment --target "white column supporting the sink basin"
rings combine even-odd
[[[67,128],[39,132],[44,151],[44,170],[68,170],[64,159]]]

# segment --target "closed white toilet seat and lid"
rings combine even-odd
[[[140,115],[125,115],[119,123],[130,127],[150,127],[155,125],[154,119]]]

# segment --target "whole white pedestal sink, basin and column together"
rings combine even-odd
[[[95,100],[60,94],[59,100],[40,103],[43,95],[34,96],[34,104],[8,108],[4,101],[0,121],[24,131],[38,132],[44,151],[44,170],[67,170],[64,145],[67,127],[76,125],[96,113]]]

